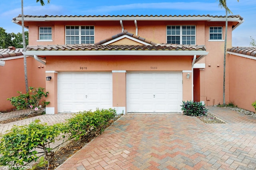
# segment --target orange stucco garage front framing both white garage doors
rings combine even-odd
[[[156,60],[157,58],[157,60]],[[126,71],[154,71],[150,66],[157,66],[157,71],[180,71],[191,70],[192,56],[47,56],[46,76],[52,76],[51,81],[46,82],[50,102],[48,107],[54,108],[58,113],[58,74],[60,71],[81,72],[80,67],[87,67],[87,72],[126,70]],[[183,100],[192,100],[192,78],[186,78],[186,72],[182,74]],[[113,106],[126,107],[126,73],[112,73],[113,76]]]

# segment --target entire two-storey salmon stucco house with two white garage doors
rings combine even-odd
[[[24,55],[45,64],[47,114],[179,113],[222,102],[225,16],[24,16]],[[21,16],[13,19],[21,24]],[[232,30],[243,22],[228,16]],[[45,59],[45,62],[44,60]],[[227,76],[228,79],[228,76]],[[228,84],[227,84],[228,101]]]

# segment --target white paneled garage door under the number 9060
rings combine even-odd
[[[127,73],[127,112],[180,113],[182,72]]]

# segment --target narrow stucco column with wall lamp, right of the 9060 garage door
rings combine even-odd
[[[188,74],[189,74],[189,78],[187,78]],[[183,93],[182,99],[184,101],[193,100],[192,79],[193,79],[192,70],[183,70],[182,71],[182,93]]]

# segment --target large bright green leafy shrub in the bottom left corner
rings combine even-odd
[[[21,166],[26,162],[36,161],[38,153],[44,153],[49,160],[52,148],[50,143],[55,142],[55,137],[60,135],[60,124],[53,126],[47,123],[33,121],[29,125],[12,127],[10,132],[0,136],[0,165]],[[36,151],[42,149],[42,152]]]

